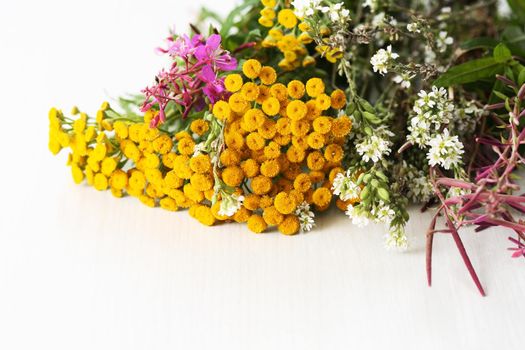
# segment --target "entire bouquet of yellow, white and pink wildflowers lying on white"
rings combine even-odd
[[[525,256],[525,2],[244,0],[158,51],[171,66],[120,108],[50,110],[75,182],[255,233],[335,203],[398,248],[420,204],[429,283],[447,233],[482,294],[462,227],[509,228]]]

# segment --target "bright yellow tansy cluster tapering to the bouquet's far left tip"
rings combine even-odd
[[[166,210],[192,207],[213,196],[213,176],[208,155],[192,157],[195,139],[206,134],[208,122],[194,120],[188,131],[171,137],[144,122],[105,118],[109,105],[89,125],[86,114],[72,120],[55,108],[49,112],[49,148],[56,154],[69,147],[68,165],[73,180],[86,180],[97,190],[110,189],[116,197],[129,194],[149,207]],[[213,221],[213,220],[212,220]],[[209,218],[201,222],[213,224]]]

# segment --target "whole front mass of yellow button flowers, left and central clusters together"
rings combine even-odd
[[[73,180],[116,197],[188,208],[205,225],[236,221],[257,233],[276,226],[295,234],[301,205],[323,211],[332,201],[352,128],[346,97],[328,94],[319,78],[276,83],[275,70],[254,59],[242,73],[225,78],[231,95],[213,105],[213,116],[175,134],[150,128],[155,112],[126,117],[104,103],[96,118],[76,108],[68,118],[52,108],[49,149],[69,148]],[[216,148],[202,148],[210,144]]]

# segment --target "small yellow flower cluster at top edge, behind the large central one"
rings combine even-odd
[[[308,34],[309,26],[300,22],[290,8],[280,8],[275,0],[262,0],[259,24],[271,28],[261,45],[265,48],[275,47],[283,59],[278,63],[283,70],[294,70],[300,66],[315,64],[315,59],[308,55],[305,45],[313,41]],[[276,12],[277,11],[277,12]],[[275,23],[277,20],[277,23]],[[300,34],[296,35],[296,28]]]

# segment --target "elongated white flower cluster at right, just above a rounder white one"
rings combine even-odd
[[[455,106],[444,88],[433,86],[431,92],[421,90],[418,96],[413,108],[415,116],[408,126],[408,140],[423,148],[441,125],[450,122]]]

